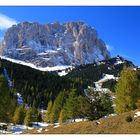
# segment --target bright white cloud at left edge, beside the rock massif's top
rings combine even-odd
[[[0,13],[0,30],[5,30],[14,24],[17,24],[16,20]]]

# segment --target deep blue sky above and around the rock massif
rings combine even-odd
[[[85,21],[95,27],[109,47],[112,56],[121,55],[140,65],[140,7],[0,7],[6,16],[0,23],[0,37],[10,24],[23,21],[67,22]],[[4,19],[5,20],[5,19]]]

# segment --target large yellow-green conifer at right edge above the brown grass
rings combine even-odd
[[[116,112],[123,113],[136,109],[136,102],[140,99],[140,81],[138,74],[132,68],[124,68],[116,86]]]

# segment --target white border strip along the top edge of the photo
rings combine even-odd
[[[0,0],[1,6],[140,6],[140,0]]]

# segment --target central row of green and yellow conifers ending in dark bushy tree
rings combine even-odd
[[[76,118],[96,120],[113,113],[112,100],[109,94],[88,90],[94,101],[85,95],[77,95],[76,89],[61,92],[54,102],[48,103],[45,121],[66,122]]]

